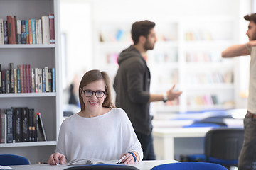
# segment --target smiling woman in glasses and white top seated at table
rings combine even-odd
[[[56,152],[48,164],[65,164],[73,159],[120,159],[134,164],[143,158],[141,144],[132,123],[111,101],[110,79],[105,72],[91,70],[79,86],[81,111],[66,118],[58,137]]]

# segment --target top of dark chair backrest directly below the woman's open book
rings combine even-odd
[[[72,166],[65,170],[111,170],[111,169],[120,169],[120,170],[139,170],[137,167],[123,165],[123,164],[94,164],[94,165],[82,165],[82,166]]]

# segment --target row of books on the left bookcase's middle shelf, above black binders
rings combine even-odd
[[[0,64],[0,82],[0,94],[55,92],[55,68],[20,64],[15,69],[14,63],[9,63],[9,69],[1,70]]]

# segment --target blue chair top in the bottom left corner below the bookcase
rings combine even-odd
[[[11,166],[11,165],[26,165],[30,164],[26,157],[21,157],[15,154],[0,154],[0,165]]]

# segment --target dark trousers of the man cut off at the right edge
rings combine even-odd
[[[256,118],[246,116],[244,128],[245,138],[238,158],[238,169],[256,170]]]

